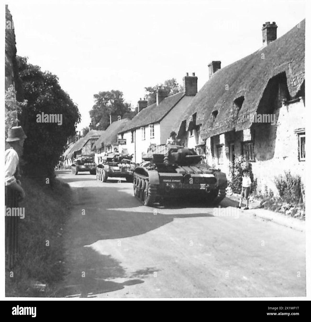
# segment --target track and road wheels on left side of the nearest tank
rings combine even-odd
[[[149,183],[149,177],[138,173],[133,174],[134,196],[145,206],[156,201],[156,185]]]

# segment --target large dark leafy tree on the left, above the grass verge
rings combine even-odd
[[[20,124],[27,139],[24,142],[24,170],[32,175],[52,175],[67,137],[76,134],[80,113],[69,95],[61,89],[58,77],[17,56],[27,106],[22,108]],[[44,122],[38,115],[58,115],[62,122]]]

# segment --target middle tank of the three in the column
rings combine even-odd
[[[108,177],[121,177],[127,182],[133,182],[135,164],[132,162],[132,157],[118,152],[108,153],[96,167],[96,179],[106,182]]]

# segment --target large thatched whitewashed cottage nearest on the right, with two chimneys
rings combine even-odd
[[[262,47],[225,68],[211,62],[209,81],[175,124],[209,164],[230,176],[242,155],[258,189],[274,191],[276,175],[304,176],[305,167],[305,20],[278,39],[276,30],[263,24]]]

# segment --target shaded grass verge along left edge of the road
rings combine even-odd
[[[51,189],[45,178],[22,179],[26,197],[19,207],[25,208],[25,218],[18,221],[17,264],[5,272],[8,297],[52,297],[54,286],[64,277],[62,231],[72,191],[67,183],[57,179],[53,183]]]

